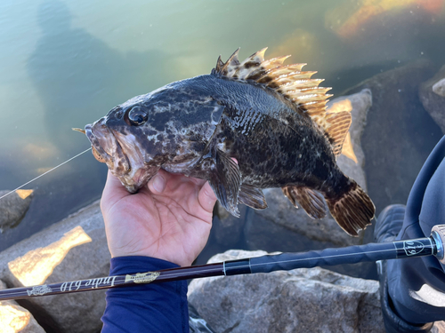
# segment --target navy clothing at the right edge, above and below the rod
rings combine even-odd
[[[445,224],[445,137],[434,147],[409,194],[397,239],[428,237]],[[445,266],[433,256],[389,260],[388,293],[405,321],[445,320]]]

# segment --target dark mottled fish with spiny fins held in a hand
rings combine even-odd
[[[328,205],[337,224],[357,236],[376,209],[336,164],[352,116],[327,111],[332,95],[311,78],[317,72],[284,65],[289,56],[264,59],[266,49],[243,61],[239,49],[225,62],[220,55],[208,75],[112,108],[85,126],[93,155],[130,193],[158,170],[182,173],[206,179],[239,217],[239,204],[266,209],[263,189],[280,187],[311,218],[324,218]]]

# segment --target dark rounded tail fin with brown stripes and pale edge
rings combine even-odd
[[[331,215],[343,230],[352,236],[357,236],[361,229],[371,224],[376,207],[368,194],[351,179],[349,191],[336,199],[326,198]]]

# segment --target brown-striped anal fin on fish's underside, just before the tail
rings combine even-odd
[[[309,187],[290,185],[281,187],[281,190],[296,208],[298,202],[311,218],[326,217],[326,205],[319,192]]]

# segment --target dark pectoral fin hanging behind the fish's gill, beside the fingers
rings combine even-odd
[[[216,149],[214,161],[216,168],[208,182],[223,207],[231,215],[239,218],[238,195],[241,184],[239,166],[220,149]]]

